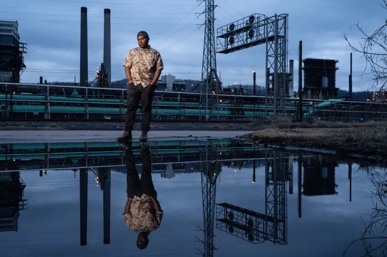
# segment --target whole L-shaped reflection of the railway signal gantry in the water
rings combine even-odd
[[[287,244],[289,162],[285,154],[269,150],[265,151],[265,159],[265,214],[228,203],[217,204],[216,227],[254,244],[265,241]]]

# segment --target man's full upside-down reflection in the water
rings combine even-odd
[[[156,230],[161,223],[163,211],[157,200],[157,192],[152,182],[152,164],[147,142],[141,143],[142,173],[141,180],[136,170],[132,142],[121,143],[125,147],[126,193],[127,201],[123,218],[127,226],[139,232],[137,247],[148,246],[150,232]]]

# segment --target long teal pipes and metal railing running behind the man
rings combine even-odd
[[[156,91],[153,114],[161,120],[194,121],[206,115],[200,96],[191,92]],[[273,117],[266,97],[218,94],[221,120],[256,120]],[[126,89],[0,82],[0,118],[12,119],[113,119],[123,120]],[[216,103],[215,103],[216,104]],[[303,99],[306,120],[380,121],[387,119],[387,103],[343,99]],[[296,117],[298,99],[285,99],[285,116]],[[142,118],[141,108],[137,118]]]

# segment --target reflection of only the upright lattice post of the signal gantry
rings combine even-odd
[[[286,181],[289,163],[282,152],[266,151],[266,210],[265,215],[273,217],[264,227],[266,240],[274,243],[287,243],[287,198]]]

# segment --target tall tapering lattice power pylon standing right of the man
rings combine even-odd
[[[218,113],[218,85],[219,78],[216,72],[216,46],[215,46],[215,16],[216,6],[214,0],[205,0],[206,7],[204,13],[204,47],[203,47],[203,66],[202,66],[202,87],[200,103],[201,116],[206,120],[219,120]],[[204,110],[203,110],[204,109]]]

